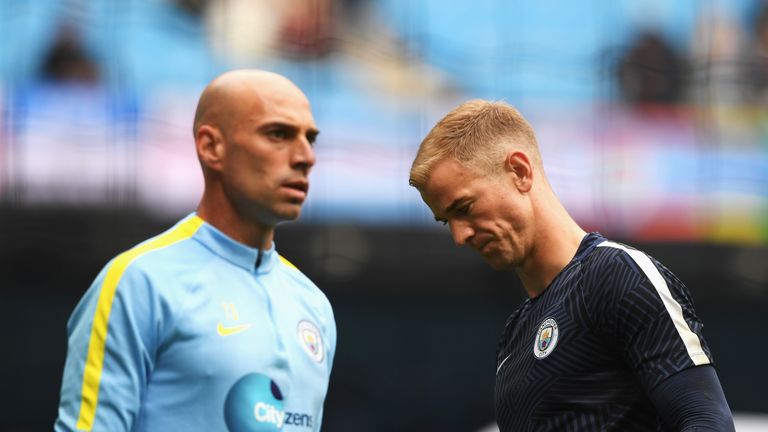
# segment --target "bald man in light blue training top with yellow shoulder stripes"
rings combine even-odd
[[[309,190],[309,102],[280,75],[229,72],[193,132],[197,211],[111,260],[75,308],[57,431],[320,430],[333,312],[273,240]]]

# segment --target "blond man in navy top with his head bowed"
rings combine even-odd
[[[410,184],[458,246],[516,271],[529,297],[497,351],[501,431],[733,430],[685,285],[579,227],[515,108],[473,100],[448,113]]]

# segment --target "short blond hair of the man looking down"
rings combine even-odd
[[[435,165],[448,157],[484,174],[496,174],[513,146],[527,151],[531,162],[542,166],[533,127],[518,110],[505,102],[464,102],[437,122],[421,142],[409,183],[422,189]]]

